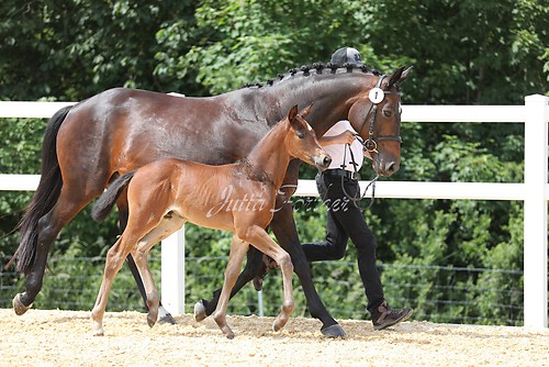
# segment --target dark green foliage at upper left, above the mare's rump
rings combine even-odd
[[[193,3],[2,1],[1,97],[80,100],[112,87],[165,90],[154,73],[156,34],[175,22],[191,26]]]

